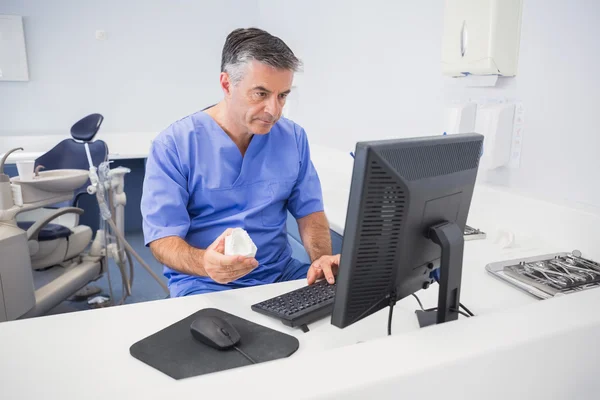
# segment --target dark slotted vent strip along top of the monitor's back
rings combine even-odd
[[[412,181],[477,168],[481,142],[381,149],[378,152],[401,176]]]

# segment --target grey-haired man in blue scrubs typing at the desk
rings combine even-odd
[[[334,282],[340,257],[331,255],[306,133],[281,118],[299,66],[267,32],[231,32],[221,60],[223,100],[154,140],[141,204],[144,236],[165,266],[172,297],[304,277]],[[291,257],[287,210],[312,264]],[[255,242],[256,258],[224,255],[236,227]]]

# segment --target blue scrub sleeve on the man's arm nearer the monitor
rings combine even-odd
[[[299,219],[309,214],[323,211],[323,194],[319,176],[310,159],[310,148],[306,132],[299,126],[296,129],[296,143],[300,155],[298,179],[288,199],[288,210]]]

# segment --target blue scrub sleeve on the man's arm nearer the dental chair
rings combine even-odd
[[[185,238],[190,227],[187,178],[175,150],[155,140],[146,161],[141,211],[146,246],[167,236]]]

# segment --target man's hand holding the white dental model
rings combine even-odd
[[[204,271],[217,283],[233,282],[258,267],[258,261],[253,257],[225,255],[225,237],[232,231],[227,229],[204,252]]]

